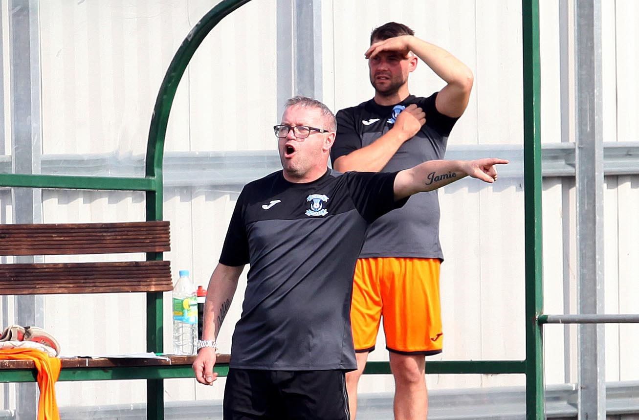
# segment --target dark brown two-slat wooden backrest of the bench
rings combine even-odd
[[[0,255],[161,253],[171,250],[168,221],[0,224]],[[1,295],[167,292],[169,261],[0,265]]]

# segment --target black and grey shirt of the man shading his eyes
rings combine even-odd
[[[393,127],[397,114],[410,104],[426,113],[426,124],[404,142],[381,172],[396,172],[426,160],[443,159],[450,130],[458,118],[440,114],[434,93],[428,98],[409,96],[396,105],[382,106],[373,99],[337,113],[337,137],[331,149],[335,159],[373,143]],[[396,212],[376,220],[369,229],[360,258],[440,258],[440,207],[437,191],[420,192]]]

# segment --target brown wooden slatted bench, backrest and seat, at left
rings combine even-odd
[[[170,249],[167,221],[0,225],[0,255],[3,256],[162,253]],[[169,261],[0,264],[0,295],[156,293],[172,289]],[[64,352],[64,343],[61,346]],[[189,366],[194,357],[167,357],[169,360],[63,359],[60,380],[171,377],[158,374],[157,369],[113,371],[113,368],[135,366],[179,365],[185,369],[177,377],[192,375]],[[0,382],[33,380],[33,367],[31,361],[1,361]],[[22,375],[7,375],[7,369],[22,369]],[[81,369],[96,369],[96,372],[78,375]]]

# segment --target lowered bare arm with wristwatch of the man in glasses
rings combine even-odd
[[[233,295],[235,295],[243,268],[243,265],[230,267],[219,263],[213,270],[204,302],[203,340],[217,338],[222,322],[224,322],[233,301]],[[215,350],[213,347],[204,347],[197,352],[196,360],[193,362],[193,371],[196,374],[197,382],[201,384],[212,385],[217,378],[217,373],[213,373],[216,359]]]

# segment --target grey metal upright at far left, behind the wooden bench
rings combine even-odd
[[[40,173],[42,127],[40,125],[40,33],[36,0],[12,0],[9,16],[9,65],[11,80],[12,171]],[[42,222],[42,191],[35,188],[13,189],[13,222]],[[20,263],[37,258],[22,256]],[[15,322],[42,325],[44,298],[41,295],[15,297]],[[17,419],[36,417],[36,385],[18,384]]]

